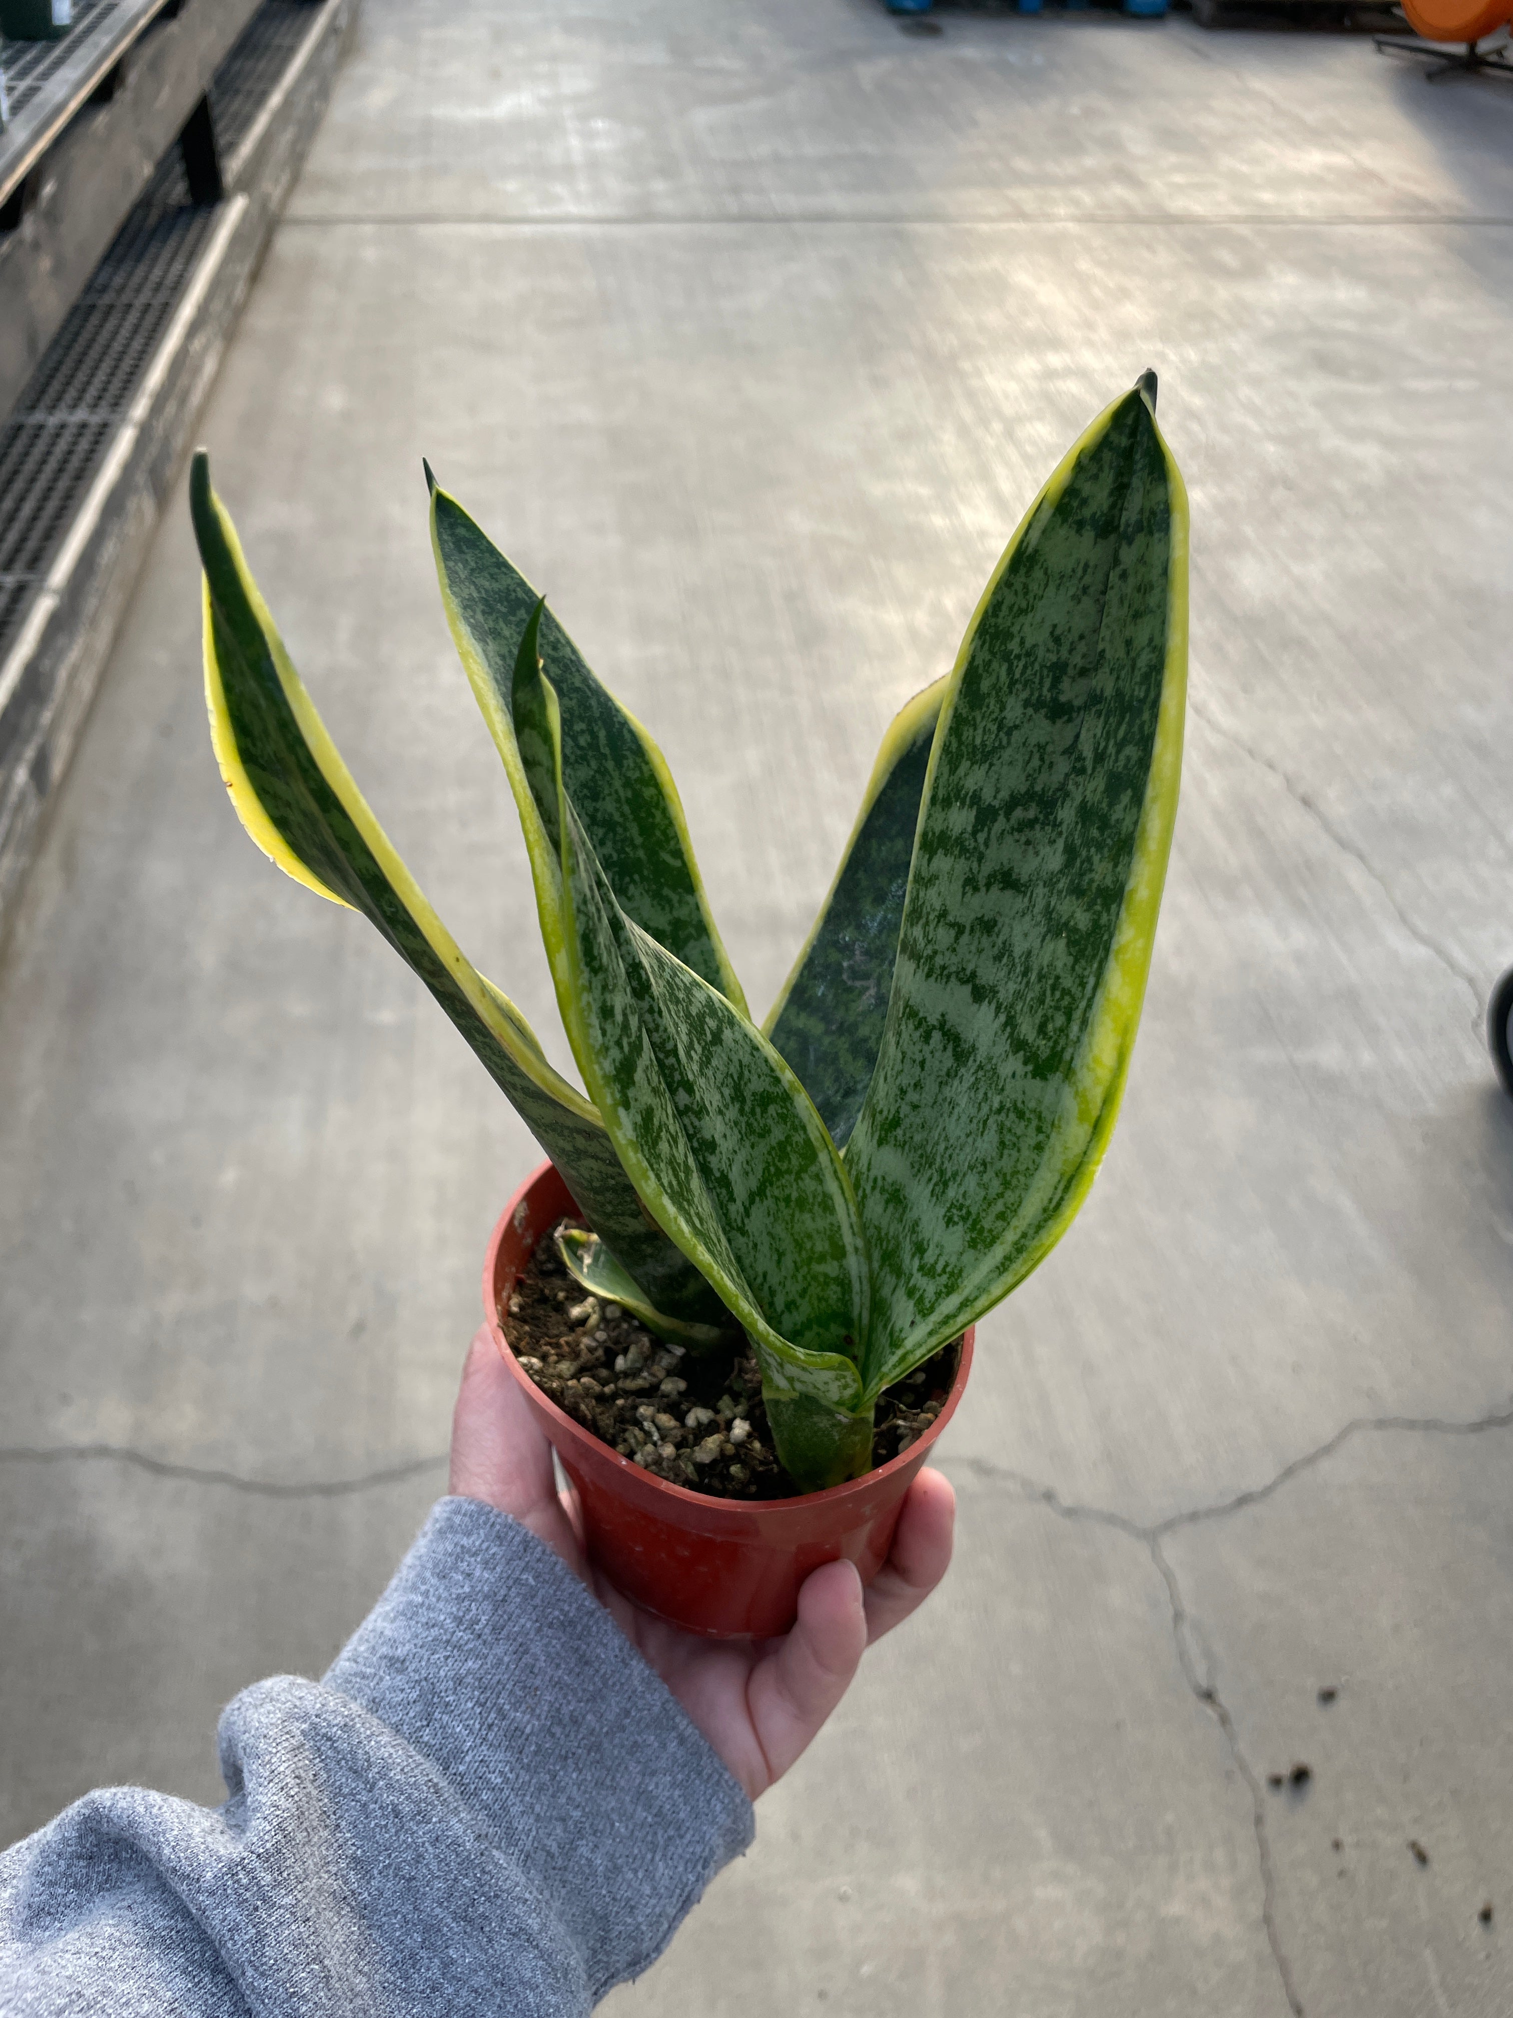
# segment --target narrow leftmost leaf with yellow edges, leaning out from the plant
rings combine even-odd
[[[567,1179],[585,1219],[650,1294],[682,1312],[706,1285],[642,1211],[593,1106],[549,1063],[535,1031],[462,955],[369,811],[194,458],[190,504],[206,569],[206,702],[242,825],[297,882],[359,910],[420,975]]]

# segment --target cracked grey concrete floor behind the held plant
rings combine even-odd
[[[1364,38],[942,20],[367,0],[204,422],[353,769],[543,1035],[422,452],[662,739],[754,1003],[1142,365],[1192,490],[1146,1027],[982,1328],[958,1564],[611,2008],[1501,2018],[1513,103]],[[214,1800],[220,1703],[319,1673],[440,1485],[535,1160],[244,842],[196,634],[180,513],[0,963],[0,1840],[101,1780]]]

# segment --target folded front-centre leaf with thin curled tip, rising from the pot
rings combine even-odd
[[[803,1489],[831,1485],[869,1419],[867,1259],[839,1152],[748,1017],[625,916],[565,785],[557,694],[527,652],[512,682],[557,751],[573,1055],[635,1191],[746,1330],[769,1409],[789,1405],[779,1455]]]

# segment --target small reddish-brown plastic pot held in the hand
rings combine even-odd
[[[799,1499],[716,1499],[670,1485],[565,1415],[510,1352],[500,1314],[537,1243],[577,1213],[567,1185],[545,1162],[514,1193],[494,1227],[484,1263],[484,1314],[494,1344],[577,1487],[589,1556],[617,1590],[658,1618],[710,1639],[787,1633],[799,1584],[821,1562],[849,1558],[869,1584],[888,1560],[904,1493],[930,1445],[956,1413],[972,1366],[972,1330],[962,1336],[946,1405],[900,1457],[861,1479]]]

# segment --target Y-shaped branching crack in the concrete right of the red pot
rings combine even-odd
[[[1166,1536],[1180,1532],[1182,1528],[1194,1528],[1200,1522],[1227,1520],[1231,1513],[1241,1513],[1245,1507],[1261,1505],[1271,1499],[1273,1493],[1281,1491],[1295,1477],[1321,1465],[1335,1451],[1344,1449],[1354,1437],[1368,1431],[1384,1435],[1440,1435],[1440,1437],[1479,1437],[1495,1429],[1513,1429],[1513,1400],[1505,1409],[1495,1409],[1489,1415],[1473,1417],[1471,1421],[1459,1423],[1446,1417],[1414,1417],[1414,1415],[1378,1415],[1378,1417],[1354,1417],[1344,1429],[1337,1429],[1333,1437],[1321,1443],[1313,1451],[1305,1451],[1303,1457],[1295,1457],[1289,1465],[1267,1479],[1265,1485],[1257,1485],[1251,1491],[1235,1493],[1233,1499],[1218,1499],[1206,1507],[1188,1507],[1182,1513],[1168,1513],[1166,1520],[1142,1526],[1130,1520],[1128,1513],[1116,1513],[1112,1507],[1081,1505],[1071,1499],[1063,1499],[1053,1485],[1043,1485],[1039,1479],[1027,1477],[1023,1471],[1011,1471],[1005,1465],[995,1465],[991,1459],[966,1457],[954,1459],[968,1471],[988,1481],[1003,1481],[1013,1485],[1021,1497],[1029,1503],[1043,1505],[1051,1513],[1069,1522],[1087,1522],[1097,1528],[1114,1528],[1118,1534],[1128,1536],[1138,1542],[1156,1566],[1156,1574],[1166,1586],[1166,1600],[1172,1608],[1172,1641],[1176,1645],[1176,1663],[1182,1671],[1182,1679],[1192,1691],[1194,1699],[1208,1711],[1218,1729],[1225,1735],[1229,1754],[1235,1760],[1235,1770],[1239,1772],[1245,1788],[1251,1796],[1251,1822],[1255,1828],[1255,1851],[1257,1863],[1261,1867],[1261,1925],[1265,1927],[1267,1945],[1271,1949],[1271,1959],[1277,1966],[1277,1978],[1281,1980],[1283,1996],[1287,1998],[1287,2008],[1293,2018],[1303,2018],[1303,2002],[1297,1994],[1297,1978],[1293,1976],[1293,1966],[1283,1947],[1281,1929],[1277,1925],[1277,1871],[1271,1859],[1271,1832],[1267,1828],[1267,1802],[1261,1790],[1261,1776],[1251,1766],[1241,1744],[1241,1733],[1235,1725],[1235,1717],[1229,1711],[1223,1695],[1218,1693],[1218,1683],[1212,1673],[1212,1665],[1198,1657],[1196,1627],[1192,1614],[1188,1612],[1186,1598],[1182,1596],[1182,1584],[1178,1582],[1176,1570],[1172,1568],[1162,1542]],[[942,1469],[948,1469],[952,1459],[946,1459]]]

